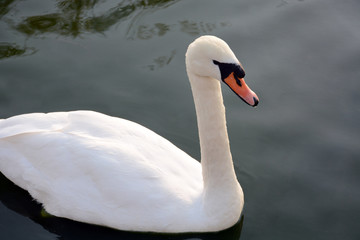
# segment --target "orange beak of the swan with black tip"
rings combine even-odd
[[[244,78],[238,78],[234,72],[223,80],[236,95],[238,95],[244,102],[250,106],[255,107],[259,103],[259,98],[248,85],[246,85]]]

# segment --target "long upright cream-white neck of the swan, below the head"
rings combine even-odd
[[[208,211],[215,212],[222,207],[240,214],[243,194],[235,175],[230,152],[220,82],[191,72],[188,72],[188,76],[199,128],[204,206]],[[224,204],[227,207],[223,206]]]

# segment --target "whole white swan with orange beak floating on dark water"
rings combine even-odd
[[[214,36],[186,53],[201,164],[134,122],[92,111],[0,120],[0,170],[52,215],[151,232],[218,231],[235,224],[237,181],[220,82],[246,103],[258,98],[229,46]]]

